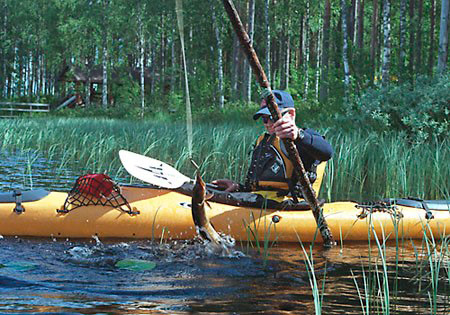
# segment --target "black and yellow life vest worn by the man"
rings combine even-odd
[[[317,161],[307,170],[316,195],[319,193],[325,166],[326,162]],[[290,185],[297,185],[297,180],[292,179],[293,171],[294,166],[281,139],[268,134],[261,135],[253,150],[246,187],[253,191],[276,190],[278,194],[280,191],[288,194],[292,190]]]

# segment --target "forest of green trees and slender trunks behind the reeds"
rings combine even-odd
[[[448,0],[235,1],[273,88],[315,126],[398,130],[414,141],[449,131]],[[182,119],[175,1],[2,0],[0,99],[62,115]],[[184,1],[194,116],[251,119],[259,90],[221,1]],[[69,72],[65,70],[69,69]],[[67,83],[71,71],[87,85]],[[102,84],[87,89],[99,70]],[[97,90],[99,98],[90,101]],[[219,118],[219,119],[221,119]]]

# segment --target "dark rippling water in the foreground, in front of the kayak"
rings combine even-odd
[[[0,263],[5,267],[0,268],[0,312],[314,313],[309,275],[298,245],[272,248],[268,261],[253,250],[247,252],[239,247],[236,250],[241,254],[218,257],[192,241],[158,244],[126,240],[1,239]],[[377,264],[377,250],[371,252],[371,264],[364,244],[328,251],[316,247],[312,252],[319,286],[325,288],[322,312],[362,314],[351,270],[361,288],[363,268],[369,278],[369,269]],[[393,244],[387,247],[387,254],[389,272],[394,273]],[[156,268],[118,269],[115,263],[124,258],[153,261]],[[390,293],[392,314],[430,313],[429,282],[424,277],[419,290],[419,282],[412,280],[417,274],[415,259],[410,246],[400,256],[397,289]],[[438,314],[450,311],[448,279],[443,273],[437,296]],[[389,285],[393,286],[394,281]],[[370,314],[381,308],[377,304],[371,306]]]

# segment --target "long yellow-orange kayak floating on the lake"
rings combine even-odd
[[[190,239],[196,231],[191,197],[171,189],[122,186],[125,206],[67,204],[68,193],[34,190],[0,193],[0,234],[56,238]],[[217,231],[236,241],[321,242],[311,210],[252,208],[210,202],[207,215]],[[409,199],[359,205],[323,205],[335,240],[443,238],[450,230],[449,201]]]

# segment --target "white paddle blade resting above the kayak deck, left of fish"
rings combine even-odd
[[[172,166],[144,155],[119,151],[120,161],[130,175],[155,186],[178,188],[191,179]]]

